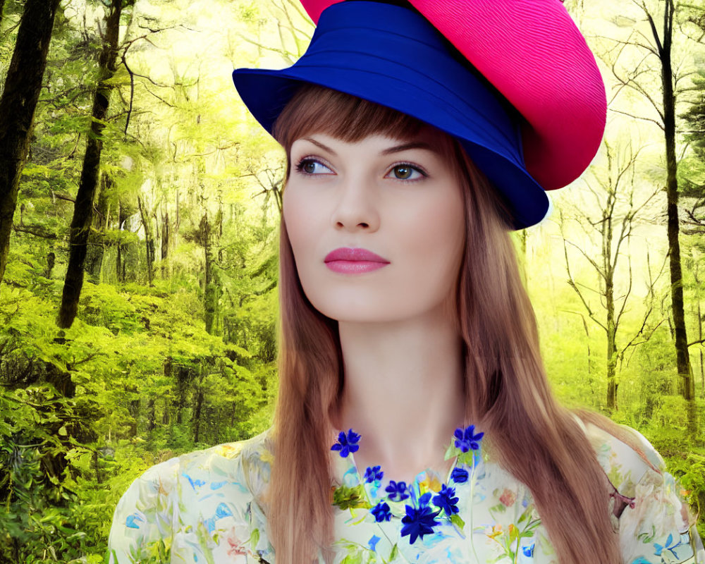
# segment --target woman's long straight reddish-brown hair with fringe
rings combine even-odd
[[[384,106],[305,85],[279,116],[274,136],[286,150],[288,180],[290,148],[303,135],[406,140],[423,126]],[[460,143],[448,140],[446,160],[465,203],[454,321],[464,343],[467,420],[488,431],[498,463],[532,492],[562,564],[616,564],[608,481],[575,415],[548,386],[508,211]],[[266,510],[277,562],[300,564],[319,550],[326,560],[332,555],[330,415],[344,375],[337,322],[307,300],[283,219],[279,293],[279,393]]]

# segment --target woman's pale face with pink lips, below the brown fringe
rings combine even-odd
[[[338,321],[400,321],[453,299],[465,241],[463,199],[441,157],[448,138],[295,140],[283,216],[312,305]],[[451,303],[451,302],[448,302]]]

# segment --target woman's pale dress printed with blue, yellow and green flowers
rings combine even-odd
[[[678,486],[646,439],[630,429],[643,447],[635,449],[594,425],[584,430],[613,485],[623,562],[705,563]],[[335,563],[557,563],[529,489],[488,458],[482,439],[473,426],[457,429],[448,475],[427,470],[407,484],[379,466],[358,470],[364,440],[341,431],[331,447]],[[274,564],[259,502],[271,462],[265,431],[149,468],[118,503],[107,561]]]

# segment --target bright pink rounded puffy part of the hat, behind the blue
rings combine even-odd
[[[302,5],[318,23],[337,1]],[[595,57],[560,0],[410,3],[525,118],[525,165],[544,190],[580,176],[602,141],[607,97]]]

